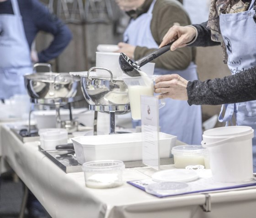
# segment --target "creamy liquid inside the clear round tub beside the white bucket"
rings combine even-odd
[[[174,155],[174,166],[176,168],[185,168],[189,165],[203,165],[204,166],[204,157],[203,156],[177,156]]]

